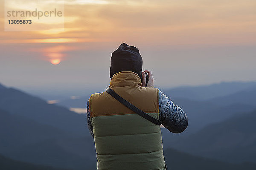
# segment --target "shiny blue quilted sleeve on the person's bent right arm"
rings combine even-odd
[[[172,133],[181,133],[188,126],[186,113],[162,91],[160,91],[159,119],[162,125]]]

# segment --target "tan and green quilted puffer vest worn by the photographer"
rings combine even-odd
[[[113,76],[110,88],[145,113],[159,119],[159,90],[144,88],[131,71]],[[160,126],[149,122],[107,92],[89,100],[98,170],[164,170]]]

